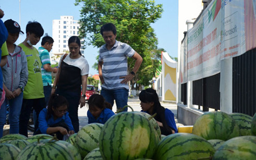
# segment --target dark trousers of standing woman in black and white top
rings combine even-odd
[[[81,97],[80,93],[63,91],[60,89],[57,89],[56,93],[67,99],[69,118],[71,119],[75,132],[77,133],[79,131],[78,106]]]

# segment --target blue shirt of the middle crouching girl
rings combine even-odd
[[[102,110],[100,116],[95,119],[94,116],[92,116],[92,114],[90,113],[90,111],[87,111],[87,117],[88,117],[88,124],[91,123],[100,123],[100,124],[105,124],[106,121],[112,117],[114,115],[114,112],[109,109],[109,108],[105,108],[104,110]]]

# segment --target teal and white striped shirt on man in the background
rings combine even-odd
[[[39,47],[38,52],[39,52],[39,56],[40,56],[41,63],[42,63],[41,71],[42,71],[43,86],[46,86],[48,84],[51,85],[52,84],[52,72],[46,71],[43,68],[43,65],[45,65],[45,64],[51,65],[49,52],[44,47]]]

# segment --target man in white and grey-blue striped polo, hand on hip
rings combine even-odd
[[[117,29],[113,23],[104,24],[100,33],[106,44],[100,47],[99,55],[99,77],[102,83],[101,95],[112,106],[115,103],[121,109],[127,105],[128,82],[135,77],[135,74],[142,64],[142,57],[126,44],[115,40]],[[127,71],[127,57],[135,59],[132,71]],[[127,111],[127,108],[124,109]]]

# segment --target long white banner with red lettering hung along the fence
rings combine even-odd
[[[181,83],[187,82],[184,77],[192,81],[215,75],[220,72],[220,60],[256,47],[254,6],[256,0],[215,0],[207,6],[188,31],[187,59],[185,44],[181,46]]]

